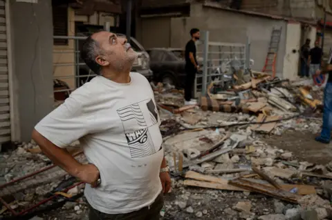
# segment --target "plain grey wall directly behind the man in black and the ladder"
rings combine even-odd
[[[255,60],[253,70],[258,71],[264,67],[273,27],[282,27],[276,65],[277,75],[282,77],[286,50],[286,21],[202,7],[199,4],[192,6],[191,14],[191,17],[172,18],[171,47],[183,48],[190,39],[191,28],[210,31],[210,41],[228,43],[246,43],[248,34],[251,41],[250,57]]]

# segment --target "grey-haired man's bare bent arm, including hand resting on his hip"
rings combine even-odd
[[[33,130],[33,139],[46,157],[53,161],[54,164],[64,169],[73,177],[77,177],[85,183],[95,186],[100,175],[97,167],[93,164],[83,165],[79,163],[66,149],[55,146],[55,144],[42,136],[37,130]]]

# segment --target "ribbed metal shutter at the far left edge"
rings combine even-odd
[[[10,108],[5,0],[0,0],[0,143],[10,141]]]

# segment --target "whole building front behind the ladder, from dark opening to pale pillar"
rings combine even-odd
[[[255,60],[252,69],[261,71],[272,30],[282,28],[276,61],[277,76],[295,79],[302,39],[315,41],[316,38],[317,28],[313,21],[234,10],[218,1],[167,2],[142,1],[136,37],[145,48],[184,48],[190,39],[191,28],[208,30],[210,41],[246,43],[246,37],[249,37],[250,58]]]

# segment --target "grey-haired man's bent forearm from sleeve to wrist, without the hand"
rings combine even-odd
[[[78,177],[82,164],[75,160],[66,149],[55,146],[52,142],[48,141],[37,130],[33,131],[33,139],[38,144],[39,148],[44,152],[54,164],[64,169],[73,177]]]

